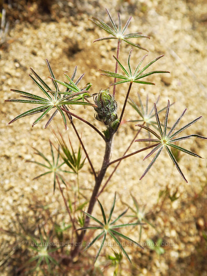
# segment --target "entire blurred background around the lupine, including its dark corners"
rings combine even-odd
[[[72,75],[77,65],[77,76],[85,73],[81,85],[84,86],[87,82],[93,83],[90,88],[91,94],[107,88],[113,80],[100,76],[98,69],[114,71],[115,61],[112,56],[116,55],[117,42],[103,40],[93,43],[95,39],[106,36],[106,33],[88,21],[88,18],[96,16],[109,23],[105,8],[109,9],[116,23],[117,12],[121,14],[123,25],[128,17],[132,16],[128,32],[142,32],[150,36],[150,40],[132,39],[134,43],[149,50],[146,63],[161,54],[165,55],[154,63],[150,70],[171,71],[171,74],[166,74],[167,76],[156,74],[148,77],[148,80],[155,82],[156,86],[133,85],[131,97],[138,102],[137,92],[139,92],[145,103],[148,94],[151,105],[149,109],[159,95],[159,109],[167,105],[168,99],[171,103],[175,102],[170,110],[169,125],[173,124],[187,107],[180,127],[201,115],[203,118],[186,129],[185,135],[195,133],[207,136],[207,3],[205,0],[1,0],[1,275],[33,275],[28,272],[28,264],[25,265],[34,253],[29,249],[30,237],[38,237],[42,227],[48,235],[54,235],[54,224],[60,225],[63,219],[66,225],[70,224],[59,190],[56,189],[53,194],[52,176],[45,175],[32,180],[44,170],[40,171],[40,167],[25,162],[38,161],[35,159],[32,147],[49,156],[48,140],[55,142],[51,130],[44,129],[44,121],[46,123],[49,117],[33,128],[35,116],[22,118],[8,125],[13,117],[27,110],[30,105],[26,107],[23,104],[5,103],[4,100],[17,97],[10,89],[41,95],[41,91],[37,90],[28,74],[29,67],[32,67],[49,83],[45,58],[49,59],[56,79],[63,80],[63,72],[66,70]],[[119,59],[123,64],[127,64],[130,49],[129,44],[121,43]],[[132,68],[136,68],[145,54],[144,50],[134,48],[131,58]],[[125,84],[117,86],[118,114],[127,89],[128,86]],[[94,110],[91,108],[84,110],[78,106],[75,111],[101,131],[104,130],[104,126],[94,119]],[[163,121],[164,113],[161,114],[160,118]],[[138,114],[127,105],[123,123],[113,142],[111,160],[123,155],[128,147],[137,128],[135,124],[127,121],[136,119],[139,119]],[[78,131],[82,132],[82,140],[95,164],[95,170],[98,171],[101,165],[100,156],[104,152],[102,141],[90,128],[75,119],[74,122]],[[74,147],[77,148],[78,143],[75,142],[76,138],[69,123],[65,131],[62,118],[56,116],[52,122],[54,129],[56,125],[65,137],[69,134]],[[139,137],[146,138],[147,133],[143,130]],[[131,151],[141,148],[143,144],[133,144]],[[206,157],[203,140],[192,138],[182,141],[179,145]],[[119,261],[113,263],[109,258],[109,255],[113,255],[113,251],[104,248],[100,260],[93,268],[93,258],[98,250],[94,245],[88,255],[76,260],[71,267],[64,266],[63,262],[62,267],[66,272],[56,268],[52,275],[113,275],[117,264],[119,273],[117,275],[207,275],[206,159],[198,159],[184,153],[177,157],[188,180],[188,183],[185,183],[167,153],[162,152],[150,172],[139,181],[149,163],[147,160],[143,161],[144,156],[144,153],[134,155],[120,164],[107,189],[101,194],[100,201],[106,209],[109,208],[114,192],[117,191],[115,211],[119,214],[125,209],[126,202],[134,208],[130,195],[132,193],[140,208],[145,207],[144,218],[153,225],[153,227],[148,223],[144,225],[141,242],[152,240],[156,243],[162,240],[164,246],[145,247],[144,250],[127,248],[133,265],[127,262],[125,256],[120,263]],[[106,177],[112,169],[109,169]],[[87,197],[94,185],[93,175],[91,172],[88,175],[88,170],[89,166],[86,163],[80,174],[80,183],[87,189],[85,192]],[[67,183],[68,186],[73,185],[75,176],[69,175]],[[97,206],[93,213],[100,215]],[[128,231],[134,235],[134,239],[138,239],[139,228]],[[55,233],[57,234],[57,231]],[[92,234],[87,235],[91,239]],[[65,240],[70,239],[67,230],[63,236]],[[47,271],[47,264],[43,266],[43,272],[35,270],[34,275],[36,273],[45,275],[44,271]]]

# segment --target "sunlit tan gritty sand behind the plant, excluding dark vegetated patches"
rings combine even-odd
[[[17,98],[17,95],[10,89],[35,92],[41,95],[41,91],[36,88],[28,74],[30,73],[29,67],[32,67],[49,84],[47,79],[49,73],[45,58],[48,58],[51,62],[57,79],[64,80],[63,72],[69,70],[70,74],[72,74],[75,65],[77,65],[77,75],[85,72],[81,85],[83,86],[87,82],[93,83],[90,89],[91,94],[107,88],[113,80],[100,76],[98,69],[114,70],[115,62],[112,55],[116,53],[116,41],[104,40],[93,43],[94,39],[105,36],[105,33],[88,21],[88,18],[94,15],[98,15],[103,20],[108,21],[104,10],[105,7],[110,10],[116,21],[116,12],[119,11],[123,24],[129,15],[132,15],[133,18],[128,30],[130,32],[141,31],[151,37],[150,40],[144,38],[139,39],[139,41],[136,39],[132,40],[149,49],[146,63],[161,54],[165,55],[154,63],[149,71],[153,69],[171,71],[169,76],[157,74],[148,77],[148,80],[155,82],[156,86],[133,84],[130,93],[131,97],[138,101],[136,94],[139,92],[143,102],[145,102],[148,94],[150,105],[152,106],[160,95],[160,109],[167,105],[167,99],[175,102],[170,110],[169,125],[172,125],[187,107],[186,115],[179,124],[180,127],[201,115],[203,118],[186,129],[184,134],[202,134],[207,136],[207,58],[205,53],[205,14],[207,6],[204,1],[196,1],[196,3],[194,1],[159,1],[158,3],[157,1],[148,0],[140,2],[113,1],[113,3],[111,1],[104,1],[104,3],[102,1],[90,1],[87,3],[83,2],[82,5],[80,3],[79,14],[60,18],[58,22],[40,22],[38,27],[25,21],[16,22],[10,29],[8,47],[0,50],[0,83],[2,87],[0,101],[0,160],[2,165],[0,227],[5,230],[15,228],[17,216],[20,221],[25,216],[29,220],[34,221],[33,211],[29,210],[28,206],[31,203],[35,204],[36,199],[44,202],[45,205],[52,202],[52,209],[60,214],[59,220],[62,218],[60,206],[64,208],[64,205],[58,190],[53,195],[52,178],[45,176],[33,181],[32,179],[40,173],[40,168],[32,163],[25,163],[26,160],[34,160],[32,147],[43,151],[49,156],[48,140],[51,139],[55,142],[55,139],[49,128],[44,129],[44,123],[46,123],[48,117],[33,128],[32,123],[37,117],[35,115],[25,117],[12,125],[8,125],[8,122],[13,117],[27,108],[29,109],[30,105],[5,103],[4,100]],[[124,64],[127,62],[130,49],[130,45],[124,42],[121,43],[120,60]],[[131,58],[132,68],[136,67],[144,54],[145,51],[134,49]],[[121,71],[119,72],[121,73]],[[121,113],[121,106],[127,89],[128,86],[125,84],[117,86],[118,114]],[[94,110],[92,108],[87,107],[84,110],[82,107],[77,107],[75,112],[92,122],[101,131],[104,130],[104,127],[94,119]],[[137,128],[133,123],[127,123],[127,121],[136,120],[136,118],[139,119],[136,112],[127,105],[123,124],[113,141],[111,160],[120,157],[124,153],[135,135]],[[164,113],[162,113],[160,118],[161,120],[164,119]],[[78,131],[82,132],[83,143],[86,145],[95,170],[98,171],[102,163],[104,144],[97,133],[88,126],[77,119],[74,119],[74,123]],[[51,125],[55,129],[57,125],[63,131],[65,137],[69,134],[74,147],[78,147],[72,127],[68,123],[68,129],[64,131],[63,122],[59,114]],[[143,130],[139,137],[146,138],[147,133]],[[133,144],[131,152],[140,149],[143,145],[144,143]],[[179,145],[196,152],[204,158],[206,157],[204,140],[192,138],[180,142]],[[167,152],[163,151],[151,171],[144,179],[139,181],[141,174],[149,163],[148,159],[142,161],[145,155],[141,153],[121,163],[111,179],[108,189],[100,196],[100,201],[104,203],[104,207],[109,212],[109,203],[113,200],[114,192],[117,191],[116,211],[120,213],[124,209],[121,200],[132,204],[131,192],[140,202],[140,205],[146,205],[146,212],[148,212],[155,206],[160,190],[163,190],[167,185],[171,192],[177,188],[180,194],[179,199],[174,201],[173,205],[169,201],[168,204],[170,206],[167,205],[165,207],[165,218],[168,218],[168,220],[163,220],[163,215],[160,214],[156,215],[154,219],[149,218],[161,231],[160,236],[168,241],[174,241],[176,246],[173,249],[166,249],[166,253],[160,257],[155,252],[149,256],[146,253],[144,257],[147,259],[153,256],[150,266],[147,261],[146,265],[143,264],[144,261],[140,261],[142,257],[140,250],[137,252],[136,249],[132,249],[130,255],[136,263],[135,266],[138,267],[136,267],[136,271],[141,273],[135,272],[133,275],[183,275],[187,263],[178,261],[195,253],[196,244],[200,241],[200,236],[194,221],[194,217],[198,212],[196,204],[187,205],[186,210],[183,210],[182,203],[188,204],[189,198],[193,197],[194,194],[199,194],[202,187],[205,186],[206,159],[198,159],[182,154],[179,164],[188,179],[188,183],[185,183],[173,166]],[[38,160],[36,157],[35,159]],[[93,175],[91,173],[87,174],[88,169],[89,166],[86,163],[80,173],[80,183],[85,188],[92,188],[94,185]],[[109,176],[110,171],[112,171],[112,168],[107,171],[106,177]],[[67,181],[74,183],[75,176],[69,177]],[[89,196],[90,193],[86,192],[86,195]],[[200,208],[204,207],[200,206]],[[99,216],[98,208],[95,208],[93,213],[95,214],[96,212]],[[67,216],[65,221],[69,221]],[[187,224],[186,221],[188,221]],[[191,232],[189,233],[188,230]],[[184,232],[187,237],[192,239],[186,238],[185,241],[181,241],[181,232]],[[131,233],[135,238],[137,235],[136,229],[133,229]],[[156,231],[147,227],[146,231],[143,232],[142,241],[155,235]],[[13,242],[10,236],[2,235],[1,239],[7,241],[8,244]],[[127,268],[123,275],[132,275],[132,268],[129,268],[125,260],[123,266]],[[2,273],[3,271],[5,275],[11,275],[8,272],[8,267],[4,266]],[[194,270],[192,269],[192,271]],[[192,271],[189,271],[187,275],[197,275]],[[111,270],[109,269],[105,271],[104,275],[111,275],[110,273]],[[203,270],[199,275],[206,275],[206,273]]]

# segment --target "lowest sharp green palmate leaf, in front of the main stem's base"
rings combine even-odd
[[[136,244],[136,245],[139,246],[139,247],[140,247],[140,244],[137,243],[136,241],[132,240],[131,238],[129,238],[129,237],[127,237],[127,236],[121,234],[120,232],[117,232],[115,229],[121,228],[121,227],[136,226],[136,225],[142,224],[142,223],[136,222],[136,223],[128,223],[128,224],[114,225],[114,223],[115,223],[117,220],[119,220],[119,219],[127,212],[128,209],[125,210],[123,213],[121,213],[121,215],[119,215],[115,220],[113,220],[113,221],[110,223],[111,216],[112,216],[112,214],[113,214],[113,210],[114,210],[114,206],[115,206],[116,193],[115,193],[115,195],[114,195],[114,199],[113,199],[113,203],[112,203],[112,207],[111,207],[111,210],[110,210],[110,214],[109,214],[108,220],[106,220],[105,212],[104,212],[103,206],[102,206],[101,202],[98,200],[98,198],[97,198],[97,201],[98,201],[99,207],[100,207],[101,212],[102,212],[103,223],[102,223],[100,220],[98,220],[97,218],[93,217],[91,214],[82,211],[87,217],[89,217],[90,219],[92,219],[92,220],[94,220],[95,222],[97,222],[98,225],[97,225],[97,226],[86,226],[86,227],[77,229],[77,231],[78,231],[78,230],[84,231],[84,230],[89,230],[89,229],[93,229],[93,230],[102,229],[103,231],[102,231],[100,234],[98,234],[98,236],[96,236],[96,237],[93,239],[93,241],[92,241],[91,243],[88,244],[88,246],[85,248],[85,250],[87,250],[91,245],[93,245],[93,243],[94,243],[96,240],[98,240],[99,238],[101,238],[101,237],[103,236],[103,241],[102,241],[102,243],[101,243],[101,247],[99,248],[98,254],[97,254],[97,256],[96,256],[96,258],[95,258],[95,261],[94,261],[94,263],[95,263],[96,260],[97,260],[97,258],[98,258],[98,256],[100,255],[100,252],[101,252],[102,248],[103,248],[103,245],[104,245],[104,241],[105,241],[106,235],[109,234],[109,235],[113,238],[113,240],[115,240],[115,242],[119,245],[119,247],[121,248],[121,251],[125,254],[125,256],[127,257],[127,259],[131,262],[131,260],[129,259],[128,254],[126,253],[126,251],[125,251],[125,249],[124,249],[124,247],[122,246],[121,242],[119,242],[119,240],[117,239],[116,236],[121,237],[121,238],[123,238],[123,239],[125,239],[125,240],[128,240],[128,241],[130,241],[131,243]]]

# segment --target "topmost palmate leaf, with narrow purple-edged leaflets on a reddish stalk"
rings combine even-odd
[[[123,40],[126,43],[131,44],[132,46],[134,46],[136,48],[140,48],[140,49],[143,49],[145,51],[148,51],[148,49],[140,46],[139,44],[135,44],[135,43],[131,42],[128,39],[139,38],[139,37],[150,38],[149,36],[143,35],[140,32],[139,33],[138,32],[136,32],[136,33],[129,33],[129,34],[126,34],[126,35],[124,34],[125,31],[126,31],[126,29],[128,28],[128,25],[129,25],[132,17],[129,17],[129,19],[127,20],[124,28],[121,30],[121,18],[120,18],[120,14],[118,13],[118,21],[119,21],[119,23],[118,23],[118,27],[117,27],[117,25],[113,21],[113,18],[111,16],[111,14],[109,13],[108,9],[106,9],[106,12],[107,12],[107,15],[109,17],[109,20],[110,20],[110,23],[112,25],[112,28],[108,24],[106,24],[104,21],[102,21],[101,19],[98,19],[97,17],[92,17],[89,20],[92,21],[94,24],[96,24],[101,29],[105,30],[107,33],[109,33],[112,36],[101,37],[101,38],[98,38],[98,39],[94,40],[94,42],[100,41],[100,40],[118,39],[119,42],[121,42],[121,40]]]

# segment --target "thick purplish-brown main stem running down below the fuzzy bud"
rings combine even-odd
[[[95,186],[94,186],[94,190],[93,190],[92,196],[90,198],[90,202],[89,202],[89,206],[88,206],[88,210],[87,210],[87,213],[89,213],[89,214],[91,214],[92,211],[93,211],[93,208],[94,208],[94,205],[95,205],[95,202],[96,202],[96,197],[98,195],[98,190],[101,186],[101,183],[102,183],[102,180],[104,178],[105,172],[106,172],[106,170],[109,166],[112,140],[113,140],[113,135],[111,135],[110,139],[106,142],[105,154],[104,154],[104,159],[103,159],[103,162],[102,162],[102,167],[101,167],[101,170],[98,173],[98,176],[95,178]],[[88,226],[89,221],[90,221],[90,218],[86,217],[84,227]],[[85,235],[85,231],[82,231],[81,234],[78,236],[77,241],[75,243],[75,248],[71,252],[71,259],[73,259],[79,253],[84,235]]]

